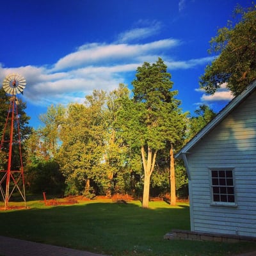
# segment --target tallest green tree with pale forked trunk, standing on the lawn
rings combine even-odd
[[[140,148],[144,171],[143,207],[148,207],[150,177],[154,171],[157,152],[167,141],[175,143],[184,129],[184,114],[171,91],[173,82],[167,67],[159,58],[156,63],[143,63],[132,81],[132,100],[124,102],[120,110],[125,138],[131,147]]]

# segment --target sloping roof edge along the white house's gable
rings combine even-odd
[[[218,115],[216,115],[211,122],[209,122],[205,127],[198,132],[183,148],[180,149],[179,153],[175,157],[180,157],[182,154],[189,154],[189,150],[198,143],[206,134],[208,134],[216,125],[220,122],[238,106],[244,99],[248,97],[256,89],[256,81],[250,84],[240,95],[231,100],[225,108],[223,108]]]

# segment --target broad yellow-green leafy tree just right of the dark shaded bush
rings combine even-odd
[[[84,104],[70,104],[60,130],[58,163],[66,178],[67,193],[90,195],[90,182],[107,180],[100,169],[104,157],[102,104],[104,92],[93,92]],[[106,183],[106,182],[105,182]]]

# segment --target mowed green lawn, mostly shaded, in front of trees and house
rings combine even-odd
[[[164,240],[172,228],[189,230],[186,203],[171,207],[163,201],[150,202],[150,208],[143,209],[140,201],[91,200],[45,206],[31,200],[28,206],[26,210],[0,211],[1,236],[113,256],[226,256],[256,250],[255,243]]]

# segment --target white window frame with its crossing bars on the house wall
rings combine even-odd
[[[214,188],[214,184],[212,184],[212,181],[214,177],[212,177],[212,171],[231,171],[232,172],[232,188],[234,189],[234,202],[222,202],[222,201],[214,201],[214,193],[213,193],[213,188]],[[218,175],[218,178],[220,178],[220,176]],[[227,177],[225,177],[227,178]],[[226,179],[227,180],[227,179]],[[230,168],[230,167],[214,167],[214,168],[209,168],[209,188],[210,188],[210,195],[211,195],[211,205],[212,206],[228,206],[228,207],[237,207],[237,196],[236,196],[236,182],[235,182],[235,168]],[[227,182],[226,182],[227,184]],[[221,186],[216,186],[221,188]],[[228,188],[227,185],[223,186],[223,188]],[[225,194],[227,195],[227,193]]]

